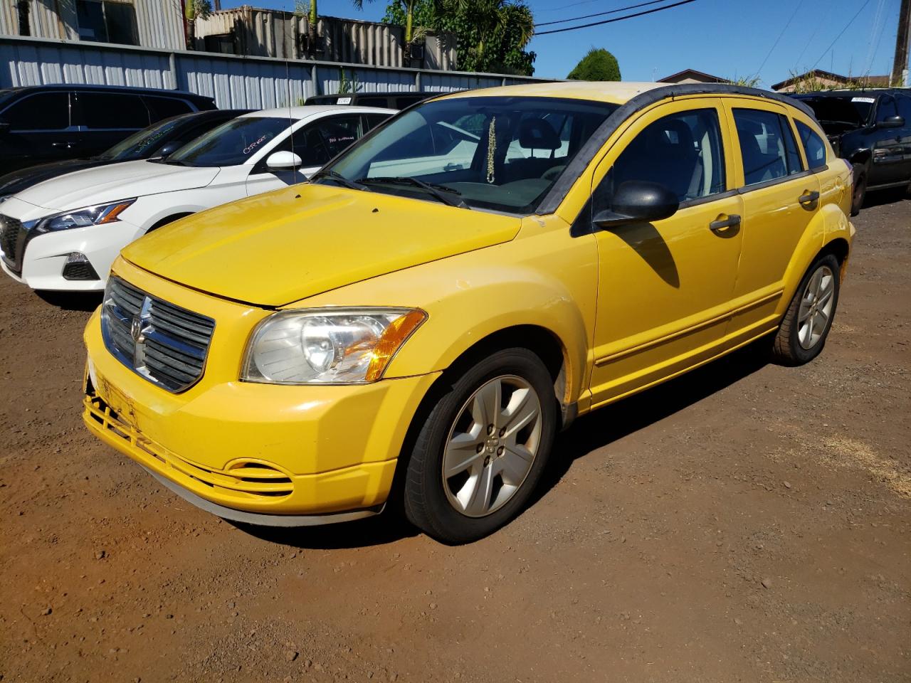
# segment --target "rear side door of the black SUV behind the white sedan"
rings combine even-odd
[[[80,126],[85,156],[100,154],[149,124],[139,95],[76,90],[74,120]]]

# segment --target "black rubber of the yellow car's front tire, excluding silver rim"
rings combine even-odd
[[[449,500],[447,487],[451,491],[452,480],[445,481],[443,476],[445,445],[455,429],[456,421],[463,416],[469,399],[487,382],[507,377],[526,382],[537,394],[540,405],[537,453],[524,480],[517,485],[506,502],[486,516],[469,516],[457,510],[455,503]],[[512,348],[493,353],[477,362],[445,388],[420,428],[405,474],[405,515],[425,534],[449,545],[470,543],[492,534],[518,515],[527,504],[547,464],[558,431],[558,420],[554,381],[535,353]],[[494,435],[497,435],[496,430]],[[478,443],[477,447],[486,448],[486,445]],[[486,468],[492,457],[496,459],[496,454],[488,457],[482,451],[478,457],[485,458],[483,467]],[[504,490],[504,485],[501,477],[500,491]],[[495,496],[491,494],[489,497],[494,499]]]

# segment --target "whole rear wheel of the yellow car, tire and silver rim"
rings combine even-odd
[[[833,254],[814,260],[804,273],[773,342],[773,358],[803,365],[823,351],[838,307],[840,266]]]

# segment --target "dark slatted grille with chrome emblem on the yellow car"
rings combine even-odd
[[[169,392],[181,392],[202,376],[215,321],[111,276],[101,331],[120,362]]]

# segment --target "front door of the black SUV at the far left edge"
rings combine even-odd
[[[0,122],[8,125],[0,133],[3,172],[85,156],[70,117],[70,94],[66,90],[20,97],[0,111]]]

